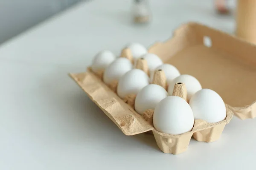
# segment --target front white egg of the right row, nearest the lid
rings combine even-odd
[[[223,99],[218,93],[210,89],[202,89],[196,92],[190,99],[189,105],[195,119],[216,123],[224,120],[227,116]]]

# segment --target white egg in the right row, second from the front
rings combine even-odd
[[[190,76],[188,74],[180,75],[179,77],[176,77],[172,80],[172,82],[169,83],[168,86],[168,93],[169,95],[172,95],[173,88],[176,82],[183,82],[186,85],[187,89],[187,99],[190,100],[191,97],[199,90],[202,89],[202,86],[198,79],[196,79],[193,76]]]

